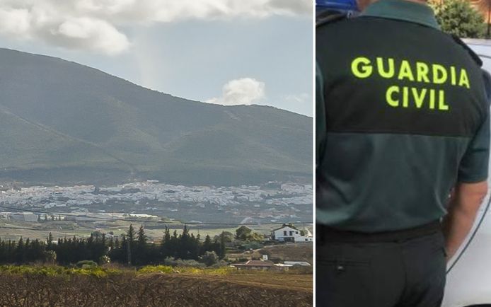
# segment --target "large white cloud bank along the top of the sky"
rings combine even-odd
[[[311,0],[1,0],[0,34],[51,45],[118,54],[125,25],[190,19],[310,16]]]

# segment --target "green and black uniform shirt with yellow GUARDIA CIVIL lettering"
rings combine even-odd
[[[457,182],[487,178],[480,60],[432,9],[380,0],[316,31],[316,219],[393,231],[446,214]]]

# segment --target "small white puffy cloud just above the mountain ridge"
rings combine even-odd
[[[219,105],[252,105],[265,98],[265,83],[252,78],[231,80],[224,85],[219,98],[206,100]]]

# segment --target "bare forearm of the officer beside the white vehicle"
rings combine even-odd
[[[450,199],[449,213],[443,223],[447,260],[456,253],[466,239],[486,194],[487,181],[456,185]]]

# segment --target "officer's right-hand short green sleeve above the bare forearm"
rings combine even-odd
[[[491,96],[490,75],[484,73],[488,101]],[[458,182],[478,183],[487,179],[490,156],[490,108],[487,103],[485,120],[473,137],[458,168]]]

